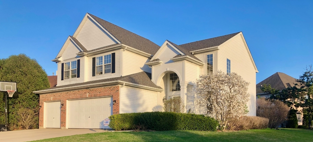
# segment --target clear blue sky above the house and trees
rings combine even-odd
[[[25,53],[52,75],[52,62],[86,13],[162,45],[242,31],[259,73],[298,78],[313,58],[313,1],[3,1],[0,58]]]

